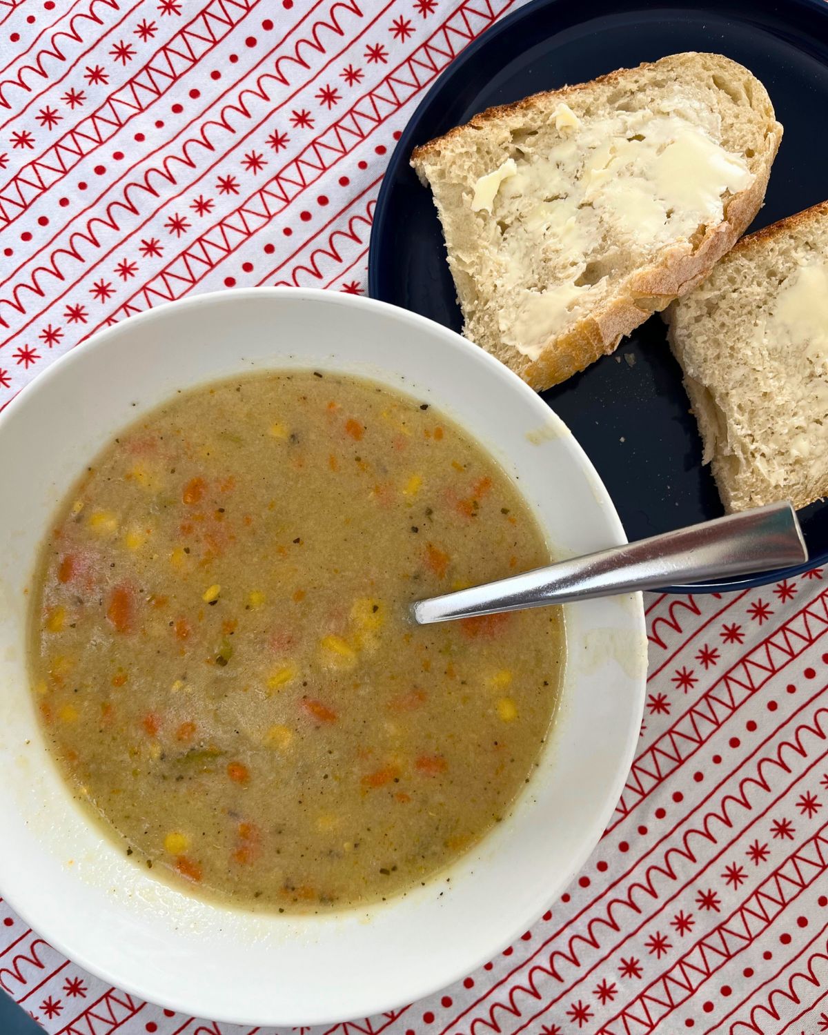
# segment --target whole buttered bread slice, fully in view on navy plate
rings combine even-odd
[[[464,333],[536,389],[612,352],[733,246],[780,138],[746,68],[677,54],[418,147]]]

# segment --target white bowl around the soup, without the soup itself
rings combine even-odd
[[[0,416],[0,893],[88,970],[197,1016],[308,1025],[389,1009],[456,980],[557,897],[603,831],[644,702],[641,596],[566,608],[562,704],[512,815],[440,879],[310,918],[207,905],[132,864],[53,767],[27,685],[27,588],[55,508],[123,425],[177,388],[267,367],[363,375],[453,417],[515,478],[559,556],[624,542],[564,424],[519,378],[437,324],[321,291],[202,295],[112,327]]]

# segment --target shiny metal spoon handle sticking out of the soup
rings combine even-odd
[[[419,625],[499,611],[569,603],[675,583],[801,564],[808,559],[796,512],[788,501],[717,518],[586,557],[559,561],[511,579],[420,600]]]

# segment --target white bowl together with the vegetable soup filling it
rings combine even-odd
[[[0,416],[0,893],[164,1006],[308,1025],[522,934],[638,737],[640,596],[418,627],[624,541],[566,427],[420,317],[162,306]]]

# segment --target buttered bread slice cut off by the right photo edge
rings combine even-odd
[[[743,238],[666,319],[726,509],[828,496],[828,202]]]

